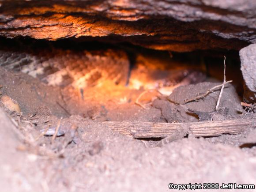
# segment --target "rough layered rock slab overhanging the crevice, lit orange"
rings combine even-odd
[[[252,0],[4,0],[0,35],[96,37],[179,52],[239,50],[256,42],[255,9]]]

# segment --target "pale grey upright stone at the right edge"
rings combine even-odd
[[[256,44],[241,49],[239,54],[244,77],[244,99],[256,102]]]

